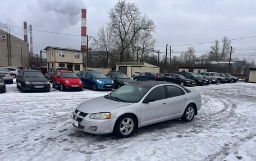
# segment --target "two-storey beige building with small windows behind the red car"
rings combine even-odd
[[[52,67],[67,67],[74,72],[83,70],[83,51],[76,49],[46,47],[47,70]]]

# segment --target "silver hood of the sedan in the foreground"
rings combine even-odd
[[[117,102],[100,96],[98,98],[90,99],[84,103],[81,103],[76,109],[84,113],[98,113],[109,112],[112,109],[123,107],[132,103]]]

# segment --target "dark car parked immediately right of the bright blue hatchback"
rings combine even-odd
[[[123,85],[129,84],[130,82],[135,82],[135,80],[130,79],[127,75],[122,72],[108,72],[107,77],[114,81],[114,88],[120,88]]]

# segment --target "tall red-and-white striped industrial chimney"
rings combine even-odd
[[[81,50],[86,53],[86,10],[81,10]],[[87,53],[86,53],[87,54]],[[83,55],[84,58],[84,55]],[[87,60],[86,60],[87,61]],[[84,62],[83,62],[84,65]]]

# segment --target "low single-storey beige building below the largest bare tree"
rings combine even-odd
[[[116,63],[116,70],[125,73],[127,76],[132,76],[134,72],[153,72],[159,73],[160,68],[144,62],[128,62]]]

